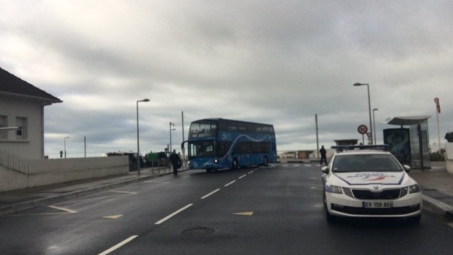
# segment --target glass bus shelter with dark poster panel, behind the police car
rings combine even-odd
[[[384,129],[384,144],[401,164],[412,168],[431,168],[428,137],[428,118],[431,116],[408,116],[388,118],[387,124],[397,125],[396,129]]]

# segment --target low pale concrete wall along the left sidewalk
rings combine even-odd
[[[96,159],[104,163],[96,164],[96,166],[90,164],[90,162]],[[89,158],[89,160],[85,158],[53,160],[60,161],[61,170],[51,170],[45,171],[45,173],[31,175],[21,173],[18,170],[13,170],[0,164],[0,192],[129,173],[129,161],[127,157],[100,157]],[[65,164],[67,167],[65,167]],[[74,164],[78,166],[76,169],[74,169]]]

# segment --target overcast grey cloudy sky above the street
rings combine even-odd
[[[201,118],[273,124],[277,150],[377,140],[395,116],[453,131],[453,1],[0,0],[0,66],[63,100],[45,107],[45,154],[136,151],[182,142]]]

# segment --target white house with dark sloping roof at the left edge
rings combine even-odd
[[[0,151],[44,158],[44,107],[63,102],[0,68]]]

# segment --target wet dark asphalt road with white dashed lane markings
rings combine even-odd
[[[191,170],[0,217],[0,254],[452,254],[424,213],[329,225],[319,166]]]

